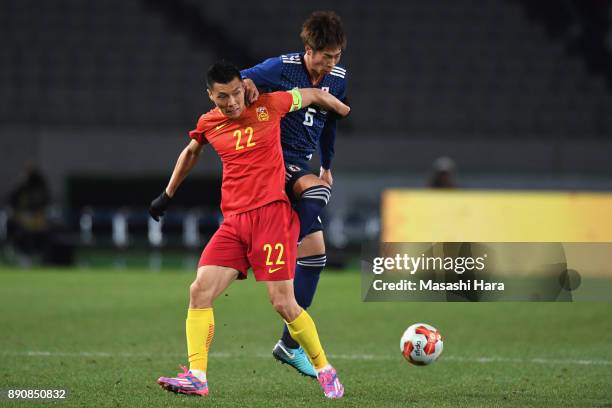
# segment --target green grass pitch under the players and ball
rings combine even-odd
[[[192,277],[0,270],[0,388],[66,388],[54,405],[79,407],[612,406],[610,303],[363,303],[358,273],[332,271],[310,312],[342,400],[272,359],[281,321],[252,278],[215,304],[210,396],[170,394],[155,380],[186,363]],[[428,367],[399,352],[415,322],[445,338]]]

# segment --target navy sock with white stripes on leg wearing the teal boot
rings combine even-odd
[[[295,267],[295,278],[293,279],[293,290],[295,291],[295,300],[298,305],[304,309],[308,309],[312,304],[312,299],[317,290],[319,276],[325,267],[327,256],[312,255],[298,258]],[[300,345],[289,334],[287,325],[283,328],[283,343],[289,348],[298,348]]]

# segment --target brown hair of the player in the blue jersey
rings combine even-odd
[[[304,45],[315,51],[325,48],[346,47],[342,20],[333,11],[315,11],[302,24],[300,38]]]

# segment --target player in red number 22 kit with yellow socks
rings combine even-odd
[[[149,211],[156,220],[198,160],[212,145],[223,163],[221,211],[224,221],[206,245],[190,287],[186,334],[190,369],[177,377],[160,377],[168,391],[207,395],[208,351],[214,335],[213,301],[235,279],[253,269],[266,282],[274,309],[317,369],[328,398],[340,398],[344,387],[321,347],[312,318],[296,302],[293,275],[299,220],[285,193],[285,167],[280,144],[280,120],[302,106],[317,104],[345,116],[349,107],[319,89],[294,89],[264,94],[245,105],[240,72],[226,62],[214,64],[207,88],[216,108],[202,115],[192,139],[180,154],[168,186]]]

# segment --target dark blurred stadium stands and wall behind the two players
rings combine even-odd
[[[302,50],[316,9],[345,22],[354,112],[326,212],[333,264],[378,238],[387,188],[610,191],[610,4],[4,0],[3,262],[178,253],[191,269],[219,221],[218,159],[207,150],[161,230],[146,207],[210,107],[204,72]]]

